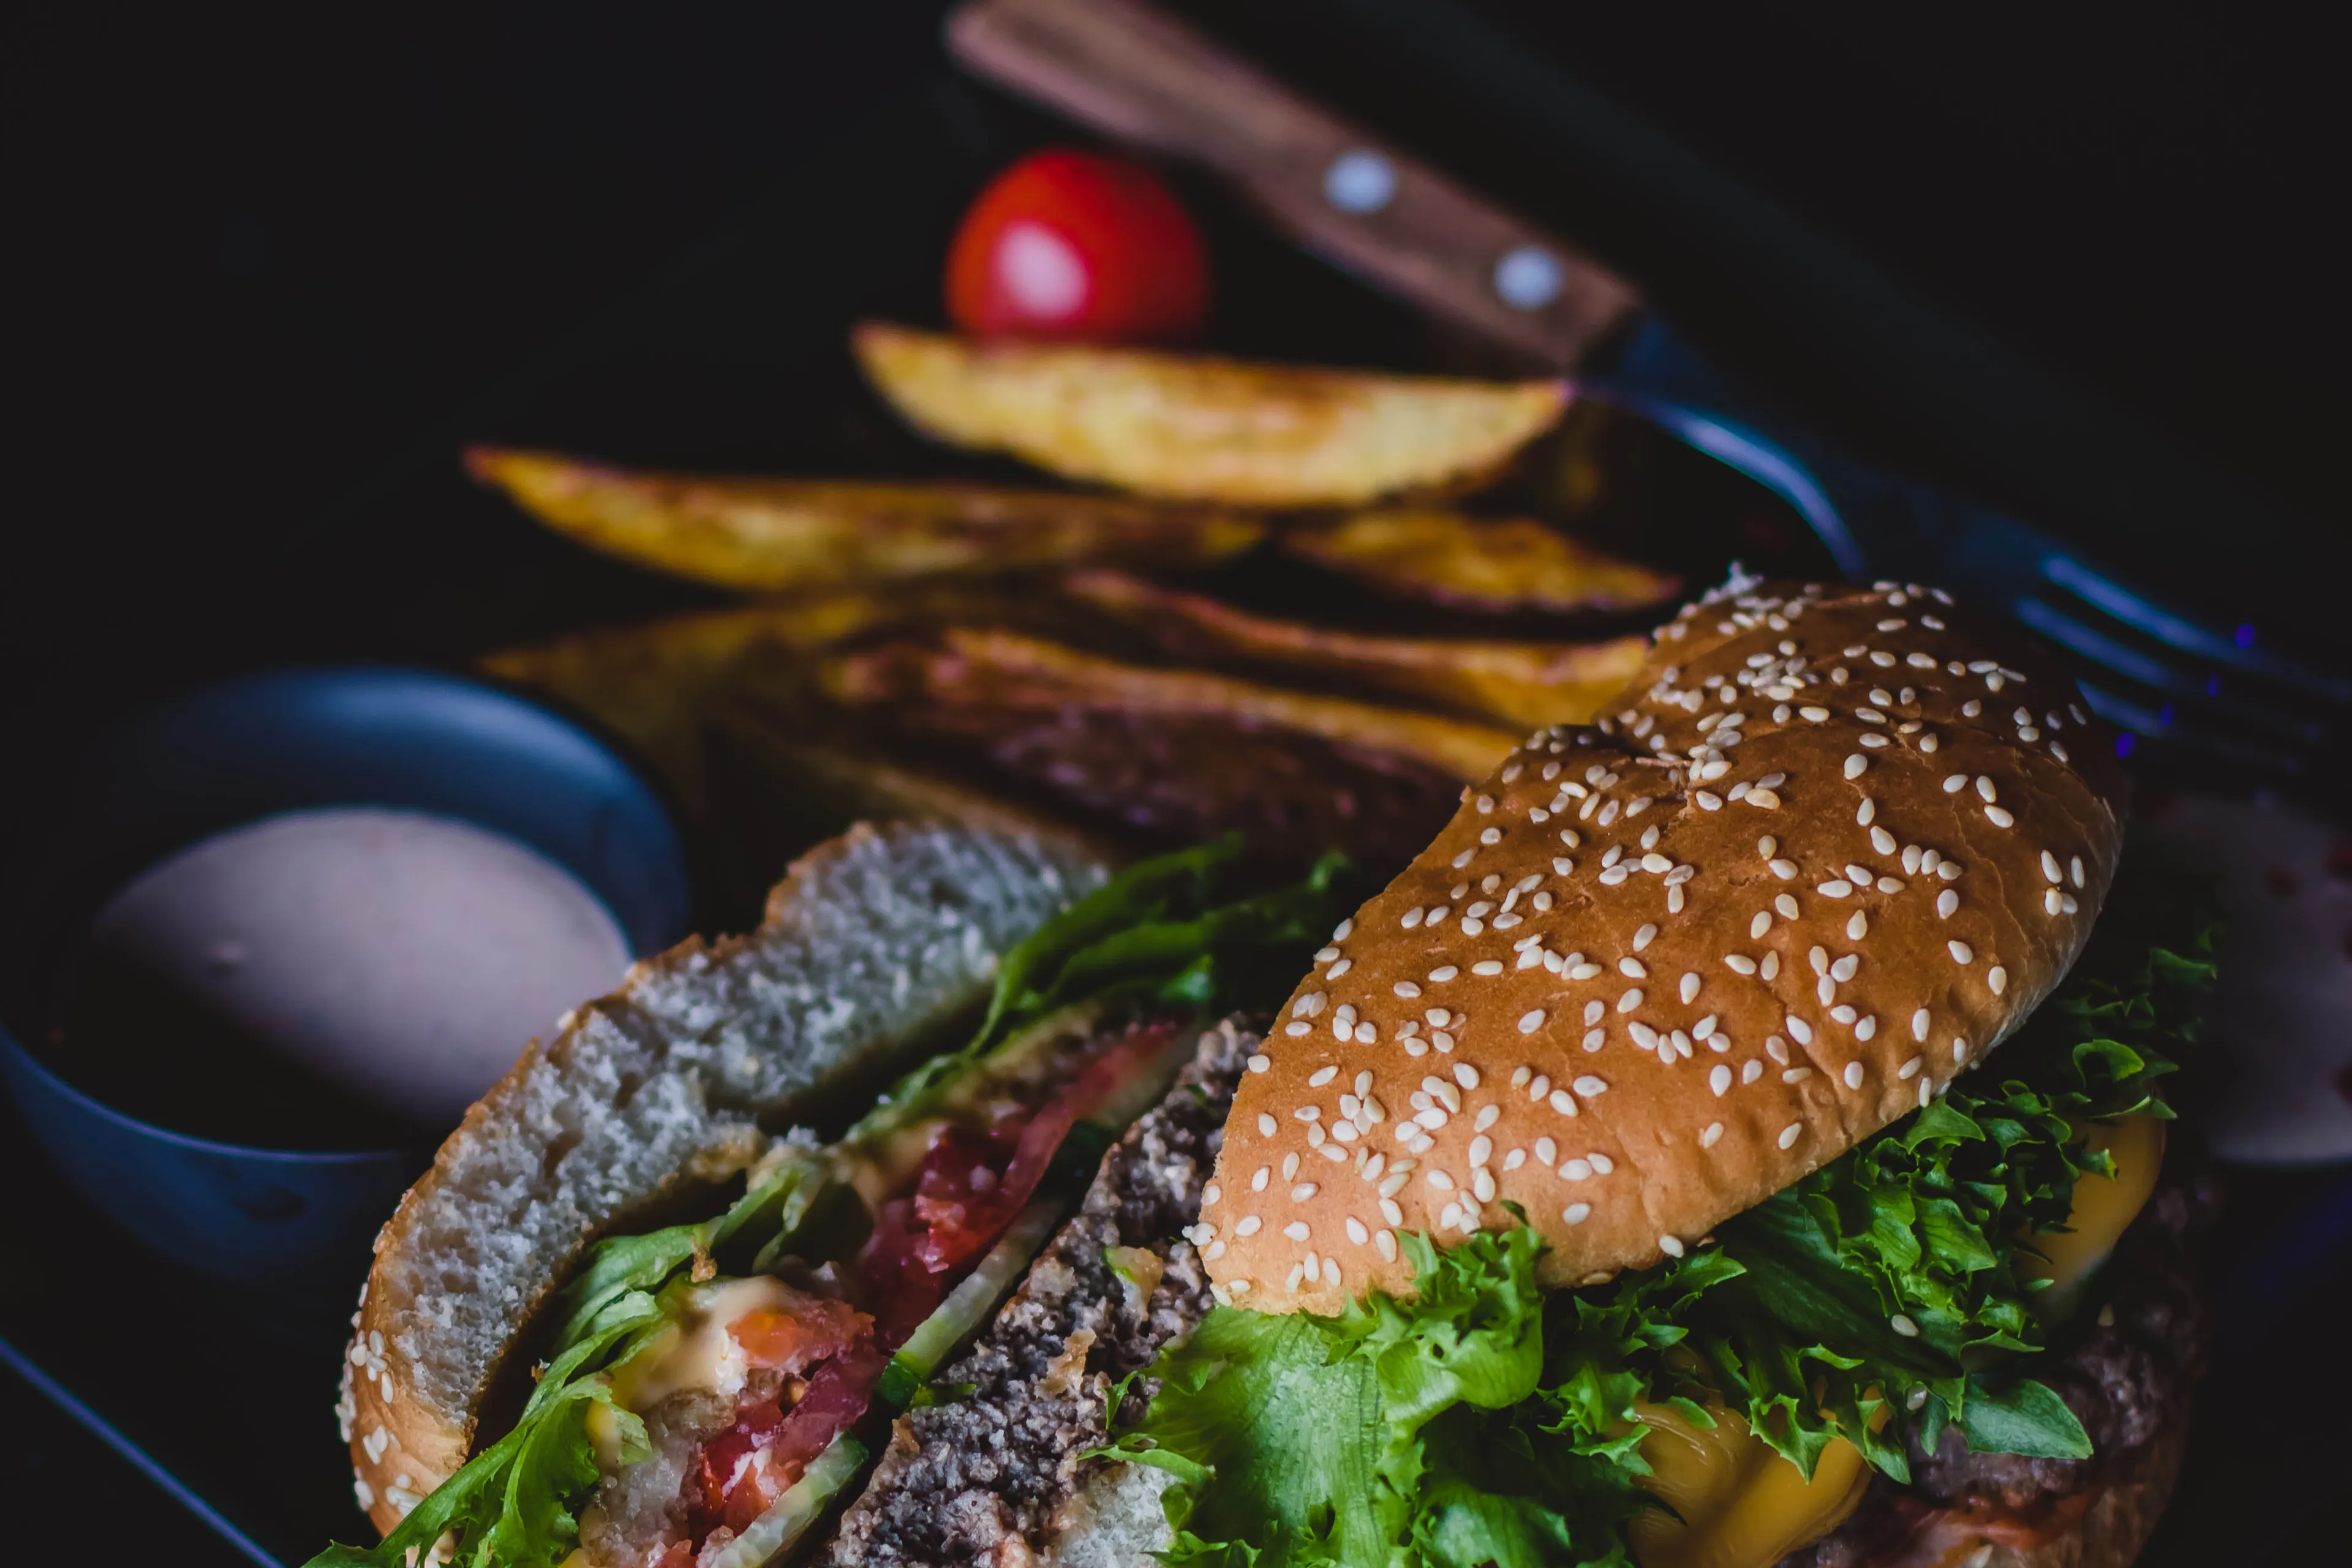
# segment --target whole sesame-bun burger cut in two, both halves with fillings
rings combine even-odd
[[[1733,581],[1336,926],[854,835],[468,1114],[350,1349],[388,1535],[318,1561],[2126,1563],[2211,966],[2122,816],[1994,623]]]

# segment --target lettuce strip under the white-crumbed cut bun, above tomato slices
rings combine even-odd
[[[844,1143],[880,1138],[936,1110],[962,1072],[1018,1048],[1023,1032],[1054,1027],[1070,1009],[1223,1013],[1279,1001],[1352,903],[1348,865],[1327,856],[1298,884],[1230,898],[1240,860],[1240,837],[1143,860],[1051,917],[1004,954],[971,1041],[901,1079]],[[1098,1152],[1108,1135],[1070,1143],[1077,1154]],[[682,1300],[677,1281],[720,1262],[764,1269],[786,1248],[814,1246],[849,1201],[823,1150],[797,1138],[779,1145],[717,1218],[597,1244],[557,1305],[550,1361],[515,1427],[381,1544],[336,1544],[306,1568],[409,1568],[433,1561],[442,1535],[452,1537],[452,1561],[470,1568],[557,1568],[579,1544],[576,1512],[597,1486],[590,1410],[607,1413],[623,1462],[647,1453],[644,1422],[612,1401],[602,1373],[661,1331]]]

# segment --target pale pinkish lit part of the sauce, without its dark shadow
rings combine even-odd
[[[572,872],[421,811],[329,806],[146,870],[92,938],[386,1110],[449,1126],[628,943]],[[167,1041],[165,1041],[167,1046]]]

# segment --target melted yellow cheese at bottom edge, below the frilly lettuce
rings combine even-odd
[[[1656,1509],[1632,1521],[1632,1556],[1642,1568],[1771,1568],[1835,1530],[1863,1500],[1870,1472],[1860,1450],[1830,1439],[1806,1481],[1748,1422],[1708,1406],[1712,1427],[1693,1427],[1668,1406],[1637,1403],[1649,1427],[1642,1486],[1682,1519]]]

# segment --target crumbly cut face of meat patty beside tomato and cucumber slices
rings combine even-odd
[[[835,1568],[1028,1563],[1077,1490],[1089,1448],[1110,1441],[1108,1394],[1209,1309],[1209,1279],[1178,1232],[1200,1220],[1225,1110],[1258,1037],[1223,1023],[1157,1110],[1127,1131],[1077,1218],[1040,1253],[978,1345],[941,1385],[953,1403],[908,1410],[833,1540]],[[1112,1272],[1103,1248],[1152,1253]],[[1141,1260],[1136,1260],[1141,1262]]]

